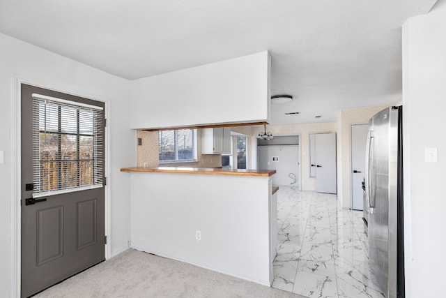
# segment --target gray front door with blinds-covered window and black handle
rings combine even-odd
[[[22,84],[22,290],[105,260],[104,103]]]

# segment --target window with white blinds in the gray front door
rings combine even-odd
[[[33,197],[101,187],[103,107],[33,94]]]

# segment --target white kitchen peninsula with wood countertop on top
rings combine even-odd
[[[121,172],[132,175],[133,248],[271,285],[275,170],[128,167]]]

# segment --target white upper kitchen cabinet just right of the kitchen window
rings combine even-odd
[[[202,128],[201,154],[230,154],[231,128]]]

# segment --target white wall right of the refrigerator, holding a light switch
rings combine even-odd
[[[446,1],[403,26],[406,297],[445,297]],[[438,162],[424,149],[438,148]]]

